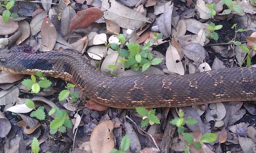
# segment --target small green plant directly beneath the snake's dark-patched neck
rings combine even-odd
[[[37,83],[35,75],[31,75],[31,79],[25,79],[21,82],[22,85],[31,89],[31,93],[38,93],[40,88],[48,88],[52,85],[52,82],[43,77],[43,74],[39,71],[36,72],[37,77],[39,77],[39,82]]]

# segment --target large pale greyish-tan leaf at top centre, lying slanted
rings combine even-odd
[[[122,28],[125,29],[136,29],[141,28],[149,18],[145,17],[117,1],[102,1],[102,11],[104,12],[104,18],[113,20]]]

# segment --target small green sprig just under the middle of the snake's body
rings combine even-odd
[[[142,127],[146,127],[148,124],[153,125],[154,123],[160,124],[160,120],[155,116],[155,109],[147,111],[143,107],[136,107],[136,112],[143,116]]]

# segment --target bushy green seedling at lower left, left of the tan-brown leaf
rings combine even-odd
[[[72,122],[65,110],[60,110],[59,108],[52,108],[49,115],[55,113],[56,118],[50,123],[50,133],[55,134],[57,131],[64,133],[66,128],[72,128]]]

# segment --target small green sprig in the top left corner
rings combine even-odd
[[[2,0],[2,7],[5,7],[6,10],[3,12],[2,16],[5,22],[8,22],[10,17],[17,18],[17,13],[12,13],[10,10],[13,8],[15,1],[14,0]]]

